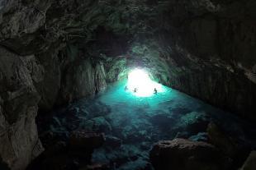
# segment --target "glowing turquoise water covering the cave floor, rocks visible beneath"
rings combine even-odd
[[[92,162],[107,163],[111,169],[151,169],[149,150],[155,142],[177,137],[205,141],[209,122],[244,145],[255,144],[255,126],[201,100],[164,86],[164,93],[136,97],[125,86],[126,81],[110,85],[92,99],[81,99],[38,121],[43,144],[50,145],[45,138],[49,131],[62,140],[71,131],[104,132],[105,145],[94,150]]]

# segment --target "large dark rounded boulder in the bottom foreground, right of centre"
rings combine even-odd
[[[156,170],[229,169],[229,160],[215,146],[184,139],[159,141],[150,151],[150,162]]]

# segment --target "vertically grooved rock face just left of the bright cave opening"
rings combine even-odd
[[[71,102],[97,93],[106,88],[104,67],[97,63],[92,66],[90,60],[73,62],[67,68],[61,88],[61,97]]]

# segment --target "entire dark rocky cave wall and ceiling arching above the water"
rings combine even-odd
[[[148,67],[155,80],[256,120],[254,0],[3,0],[0,156],[43,150],[35,117]],[[1,147],[2,146],[2,147]]]

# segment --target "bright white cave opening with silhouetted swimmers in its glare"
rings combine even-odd
[[[163,85],[151,80],[149,73],[140,69],[130,71],[128,75],[127,88],[130,93],[133,93],[138,97],[152,96],[155,94],[154,89],[157,90],[157,94],[164,92]]]

